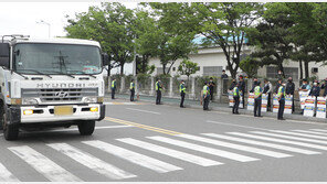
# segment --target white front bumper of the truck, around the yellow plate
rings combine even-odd
[[[55,121],[72,121],[72,120],[102,120],[105,117],[105,106],[101,104],[89,105],[72,105],[73,115],[57,116],[54,115],[54,106],[34,107],[22,106],[20,107],[20,122],[55,122]],[[97,111],[91,111],[91,108],[97,108]],[[33,110],[32,115],[24,115],[24,110]]]

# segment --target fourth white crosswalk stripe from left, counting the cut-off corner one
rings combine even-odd
[[[175,166],[172,164],[159,161],[157,159],[143,155],[103,141],[84,141],[83,143],[88,144],[91,147],[103,150],[107,153],[114,154],[120,159],[127,160],[135,164],[145,166],[147,169],[154,170],[158,173],[167,173],[171,171],[182,170],[181,167]]]

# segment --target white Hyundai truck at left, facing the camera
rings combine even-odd
[[[105,117],[103,68],[109,63],[95,41],[34,40],[4,35],[0,42],[0,129],[7,140],[20,129],[70,127],[94,132]]]

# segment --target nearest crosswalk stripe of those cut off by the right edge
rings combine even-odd
[[[261,140],[266,140],[266,141],[273,141],[273,142],[289,143],[289,144],[295,144],[295,145],[300,145],[300,147],[308,147],[308,148],[318,149],[318,150],[327,150],[327,147],[312,144],[312,143],[288,141],[288,140],[284,140],[284,139],[261,137],[261,136],[246,134],[246,133],[240,133],[240,132],[226,132],[226,133],[234,134],[234,136],[246,137],[246,138],[254,138],[254,139],[261,139]]]

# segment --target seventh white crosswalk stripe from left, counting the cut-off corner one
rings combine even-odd
[[[279,153],[279,152],[275,152],[275,151],[263,150],[263,149],[257,149],[257,148],[246,147],[246,145],[241,145],[241,144],[234,144],[234,143],[213,140],[213,139],[191,136],[191,134],[177,134],[177,137],[186,138],[186,139],[190,139],[190,140],[194,140],[194,141],[201,141],[201,142],[205,142],[205,143],[211,143],[211,144],[219,145],[219,147],[225,147],[225,148],[230,148],[230,149],[235,149],[235,150],[246,151],[246,152],[251,152],[251,153],[267,155],[267,156],[272,156],[272,158],[289,158],[289,156],[292,156],[289,154]]]

